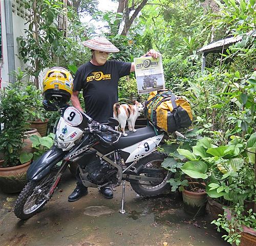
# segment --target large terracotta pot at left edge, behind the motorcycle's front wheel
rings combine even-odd
[[[2,167],[0,160],[0,189],[5,193],[20,192],[27,183],[27,170],[30,161],[15,167]]]

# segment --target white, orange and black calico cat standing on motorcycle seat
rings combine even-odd
[[[118,120],[118,122],[120,123],[123,136],[127,136],[127,133],[125,133],[124,131],[126,121],[128,122],[129,130],[135,132],[136,131],[136,129],[134,129],[135,121],[140,115],[144,106],[140,102],[135,101],[134,105],[130,105],[130,104],[120,105],[119,103],[115,103],[113,108],[114,108],[114,118]]]

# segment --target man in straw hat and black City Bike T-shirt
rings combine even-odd
[[[74,107],[82,110],[78,94],[83,90],[86,114],[93,120],[105,123],[113,117],[113,105],[118,102],[118,81],[121,77],[135,71],[134,62],[107,60],[111,52],[119,50],[108,39],[96,37],[83,42],[83,45],[92,51],[92,59],[81,65],[74,77],[74,89],[71,101]],[[155,50],[148,51],[145,56],[157,58],[159,53]],[[97,160],[95,154],[88,155],[87,162]],[[76,173],[77,186],[69,196],[69,202],[78,200],[88,194],[88,188],[84,187]],[[113,198],[113,191],[109,187],[100,189],[106,198]]]

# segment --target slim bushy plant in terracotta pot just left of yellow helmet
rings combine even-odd
[[[46,118],[46,110],[42,105],[42,92],[37,90],[33,83],[29,83],[25,87],[27,94],[26,107],[29,111],[30,128],[36,128],[42,137],[47,134],[48,119]]]

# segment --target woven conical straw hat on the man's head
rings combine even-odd
[[[105,37],[95,37],[82,44],[92,50],[105,51],[105,52],[119,52],[119,50]]]

